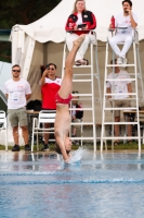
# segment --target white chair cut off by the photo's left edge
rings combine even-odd
[[[0,133],[5,135],[5,150],[8,152],[8,140],[6,140],[6,116],[3,110],[0,110]]]

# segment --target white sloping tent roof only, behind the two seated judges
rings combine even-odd
[[[62,43],[65,40],[65,24],[73,11],[74,2],[75,0],[62,0],[56,8],[40,20],[28,25],[16,24],[13,27],[24,31],[24,33],[39,43]],[[99,40],[106,41],[110,17],[122,11],[121,2],[122,0],[86,0],[87,9],[92,11],[96,17]],[[139,39],[142,40],[144,38],[144,2],[143,0],[132,0],[132,11],[139,17]]]

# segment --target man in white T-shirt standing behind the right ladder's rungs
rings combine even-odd
[[[112,63],[113,60],[110,61],[110,64]],[[117,59],[115,59],[115,64],[117,64]],[[131,87],[131,81],[128,81],[130,78],[129,73],[127,71],[120,70],[119,66],[114,66],[114,72],[107,75],[107,80],[112,78],[116,81],[107,81],[106,83],[107,94],[109,94],[108,98],[110,100],[110,104],[114,105],[115,108],[131,107],[130,98],[131,98],[132,87]],[[125,78],[127,78],[127,81],[122,81]],[[117,94],[117,95],[110,95],[110,94]],[[114,99],[114,104],[112,99]],[[120,122],[120,110],[114,110],[114,116],[115,116],[115,122]],[[127,121],[130,121],[129,116],[127,118]],[[132,132],[132,126],[128,124],[128,136],[131,136],[131,132]],[[115,125],[115,136],[119,136],[119,125]],[[128,141],[128,143],[130,142],[131,141]],[[117,144],[119,144],[119,140],[116,140],[114,143],[114,145]]]

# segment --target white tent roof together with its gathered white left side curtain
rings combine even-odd
[[[139,16],[139,39],[144,38],[143,0],[133,0],[133,11]],[[75,0],[62,0],[50,13],[28,25],[12,28],[12,63],[19,63],[28,75],[35,43],[62,43],[65,40],[65,24],[71,13]],[[86,0],[87,9],[96,17],[97,40],[106,41],[112,15],[122,11],[121,0]],[[28,55],[28,57],[26,56]]]

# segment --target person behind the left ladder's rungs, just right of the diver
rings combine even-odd
[[[78,94],[78,92],[73,92],[73,94]],[[71,122],[81,122],[83,117],[83,110],[80,110],[82,108],[82,104],[78,102],[79,96],[74,96],[71,99]],[[78,108],[78,110],[77,110]],[[73,137],[81,137],[81,130],[80,125],[73,125],[71,128],[71,136]],[[80,145],[79,141],[73,142],[76,145]]]

